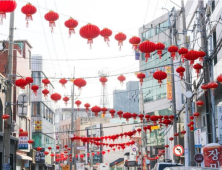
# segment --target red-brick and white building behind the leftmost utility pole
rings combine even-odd
[[[2,43],[2,42],[1,42]],[[5,67],[7,66],[8,62],[8,43],[5,43],[5,49],[0,54],[0,73],[1,76],[1,86],[4,84],[5,81]],[[16,79],[19,79],[21,77],[31,77],[31,49],[32,46],[27,40],[16,40],[14,41],[14,50],[13,50],[13,65],[12,65],[12,74],[13,81],[12,83],[15,83]],[[2,88],[2,87],[1,87]],[[5,88],[3,88],[2,92],[5,92]],[[1,93],[1,104],[0,104],[0,115],[2,115],[4,112],[4,96],[5,94]],[[14,125],[14,131],[12,131],[11,135],[11,145],[10,145],[10,151],[11,151],[11,159],[10,159],[10,166],[12,169],[15,168],[22,168],[22,167],[29,167],[32,161],[34,160],[29,157],[30,152],[30,145],[28,143],[25,144],[25,147],[20,147],[21,145],[19,143],[19,129],[22,129],[25,131],[26,135],[28,135],[28,138],[32,138],[32,134],[30,131],[30,125],[31,125],[31,114],[30,114],[30,108],[31,104],[28,101],[26,103],[26,112],[22,112],[19,114],[19,106],[16,105],[19,96],[26,95],[28,99],[30,99],[30,88],[29,86],[26,86],[24,89],[21,89],[19,87],[13,86],[12,87],[12,122]],[[1,135],[0,135],[0,167],[3,167],[2,161],[3,161],[3,131],[2,131],[2,122],[1,122]],[[17,147],[18,146],[18,147]],[[31,150],[32,152],[33,150]],[[17,158],[16,158],[17,156]]]

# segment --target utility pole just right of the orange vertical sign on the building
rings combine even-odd
[[[174,9],[173,9],[174,10]],[[170,28],[170,44],[173,45],[173,38],[172,34],[174,34],[175,29],[176,29],[176,17],[174,17],[174,23],[171,25],[170,22],[170,13],[168,11],[168,20],[169,20],[169,28]],[[171,57],[170,59],[170,64],[171,64],[171,80],[172,80],[172,113],[174,115],[173,119],[173,133],[177,133],[177,112],[176,112],[176,97],[175,97],[175,80],[174,80],[174,64],[173,64],[173,58]],[[177,145],[177,138],[174,138],[174,146]],[[179,159],[176,155],[173,155],[173,159],[175,163],[178,163]]]

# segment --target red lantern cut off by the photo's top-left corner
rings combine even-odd
[[[2,0],[0,1],[0,18],[1,22],[3,23],[3,19],[6,19],[6,13],[7,12],[13,12],[17,6],[17,3],[15,0]]]

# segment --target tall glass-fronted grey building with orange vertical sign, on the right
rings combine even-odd
[[[176,15],[176,14],[175,14]],[[167,52],[167,48],[172,45],[170,41],[170,23],[173,24],[176,22],[176,28],[180,25],[179,18],[172,21],[169,19],[168,14],[164,14],[159,18],[149,22],[139,29],[139,36],[142,41],[149,40],[151,42],[157,43],[161,42],[165,44],[165,50],[163,50],[162,58],[159,59],[159,55],[156,52],[152,53],[148,62],[145,62],[144,53],[141,54],[140,57],[140,71],[146,74],[146,78],[144,79],[142,88],[143,99],[140,106],[140,110],[144,110],[144,114],[149,115],[171,115],[172,113],[172,82],[171,76],[171,67],[170,65],[170,53]],[[179,40],[178,40],[179,41]],[[174,61],[174,70],[177,68],[179,64],[178,60]],[[168,74],[168,78],[163,80],[161,86],[158,84],[158,81],[153,78],[153,73],[155,71],[162,70]],[[178,76],[174,76],[175,79],[175,94],[176,94],[176,110],[181,108],[181,93],[182,87],[180,85],[180,81]],[[162,126],[163,128],[163,126]],[[153,131],[152,133],[148,133],[147,137],[147,146],[149,147],[150,157],[154,157],[158,154],[158,150],[164,149],[165,143],[168,140],[165,140],[164,130],[160,128],[159,130]],[[173,128],[169,130],[168,134],[172,135]],[[173,145],[172,145],[173,146]],[[168,159],[173,159],[173,153],[169,154]],[[154,163],[151,162],[151,167],[154,166]]]

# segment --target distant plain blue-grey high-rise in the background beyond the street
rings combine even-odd
[[[116,111],[139,113],[139,82],[129,81],[126,90],[113,91],[113,108]]]

